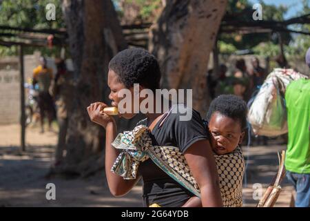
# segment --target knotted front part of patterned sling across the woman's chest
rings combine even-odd
[[[111,171],[125,180],[136,178],[140,162],[149,158],[167,175],[186,189],[200,197],[200,190],[194,179],[185,156],[175,146],[153,146],[149,128],[139,125],[133,131],[119,133],[112,146],[121,151]]]

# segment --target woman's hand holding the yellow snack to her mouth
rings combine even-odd
[[[103,102],[95,102],[87,107],[87,113],[90,115],[90,120],[103,126],[104,128],[107,128],[108,124],[115,124],[113,117],[110,117],[102,112],[103,108],[106,106],[107,104]]]

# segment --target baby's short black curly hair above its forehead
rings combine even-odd
[[[220,95],[211,102],[207,113],[209,122],[213,113],[219,112],[221,115],[238,120],[241,130],[247,128],[247,104],[236,95]]]

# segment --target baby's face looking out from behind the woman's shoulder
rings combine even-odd
[[[241,130],[240,122],[219,112],[214,112],[211,116],[209,131],[211,132],[211,147],[216,154],[233,152],[245,135]]]

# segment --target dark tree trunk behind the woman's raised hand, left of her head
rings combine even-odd
[[[112,1],[63,0],[62,3],[76,91],[72,98],[74,108],[70,112],[65,162],[56,172],[88,175],[104,167],[105,131],[90,121],[86,108],[92,102],[110,104],[108,62],[116,52],[127,48],[127,44]]]

